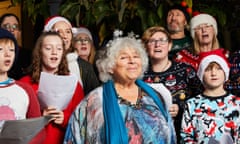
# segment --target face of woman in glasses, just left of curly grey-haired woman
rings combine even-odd
[[[78,55],[82,58],[88,60],[91,51],[92,41],[87,34],[80,33],[74,39],[73,47],[77,50]]]

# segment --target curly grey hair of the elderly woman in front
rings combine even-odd
[[[148,68],[148,56],[143,44],[140,42],[140,40],[135,38],[120,37],[109,42],[107,47],[100,52],[99,59],[96,61],[99,71],[99,78],[102,82],[107,82],[108,80],[113,79],[110,70],[114,68],[116,64],[116,58],[119,55],[120,50],[125,48],[132,48],[139,53],[139,56],[142,60],[142,74],[139,76],[139,78],[142,78],[143,73]]]

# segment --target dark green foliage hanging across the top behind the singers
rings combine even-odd
[[[33,25],[41,15],[51,15],[49,4],[58,2],[58,15],[65,16],[74,26],[86,26],[99,37],[99,44],[112,35],[114,29],[136,34],[154,25],[165,26],[169,6],[186,2],[192,14],[209,13],[219,24],[223,43],[231,47],[230,32],[239,29],[238,0],[12,0],[20,3]]]

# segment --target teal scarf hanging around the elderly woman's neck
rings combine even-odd
[[[162,101],[156,92],[141,80],[136,80],[136,84],[146,92],[159,107],[163,116],[171,127],[172,144],[175,143],[173,136],[172,120],[169,113],[166,111]],[[113,81],[108,81],[103,84],[103,114],[105,121],[105,143],[106,144],[128,144],[128,133],[118,106],[117,93],[114,88]],[[159,142],[160,144],[164,142]]]

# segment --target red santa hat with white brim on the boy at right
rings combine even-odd
[[[203,81],[203,74],[208,65],[212,62],[216,62],[221,66],[225,73],[225,81],[228,79],[230,64],[228,59],[224,55],[223,49],[216,49],[209,52],[202,52],[199,54],[199,65],[197,75],[201,81]]]

